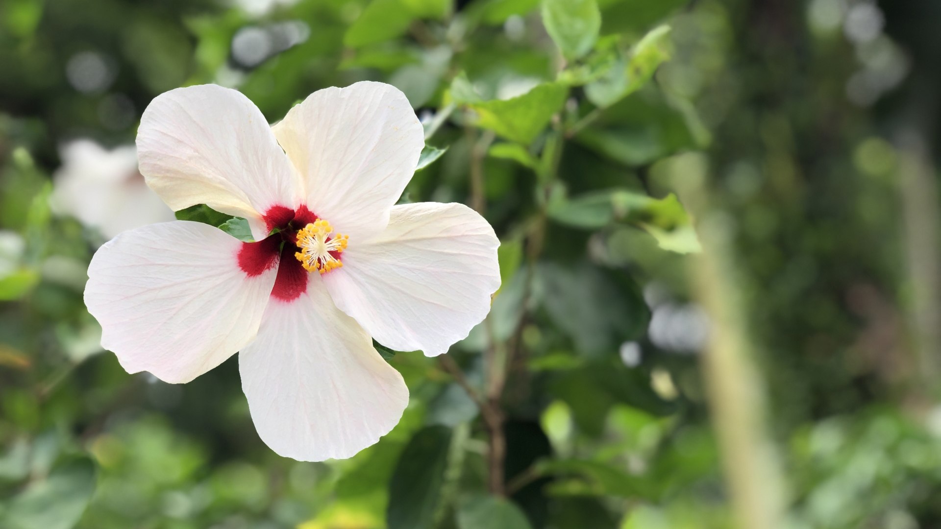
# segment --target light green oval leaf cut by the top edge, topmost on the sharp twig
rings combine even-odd
[[[596,0],[542,0],[542,23],[562,55],[572,60],[591,51],[601,29]]]

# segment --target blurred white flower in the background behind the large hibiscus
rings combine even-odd
[[[90,139],[64,145],[56,170],[53,211],[99,229],[107,238],[120,232],[175,220],[173,211],[137,171],[134,146],[111,151]]]

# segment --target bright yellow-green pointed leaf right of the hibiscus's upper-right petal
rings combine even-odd
[[[469,104],[477,112],[477,126],[506,139],[529,145],[549,124],[552,115],[566,103],[568,87],[543,83],[509,100]]]

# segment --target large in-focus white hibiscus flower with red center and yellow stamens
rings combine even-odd
[[[252,420],[281,456],[351,457],[375,443],[408,390],[371,338],[439,355],[500,286],[483,217],[394,205],[423,143],[405,95],[382,83],[314,92],[273,127],[229,88],[158,96],[137,133],[147,183],[175,210],[246,217],[258,242],[186,221],[121,233],[88,267],[102,345],[128,372],[167,382],[239,351]]]

